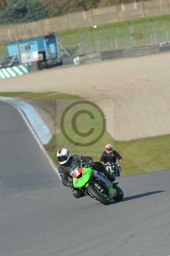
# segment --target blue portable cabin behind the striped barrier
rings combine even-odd
[[[17,56],[24,53],[34,53],[37,51],[45,51],[47,62],[54,61],[56,64],[62,64],[60,49],[58,45],[58,36],[50,34],[47,36],[39,36],[11,42],[7,44],[8,56]],[[30,60],[30,62],[32,62]]]

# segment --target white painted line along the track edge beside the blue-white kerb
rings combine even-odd
[[[45,157],[48,159],[48,161],[49,161],[51,167],[54,169],[54,171],[57,173],[58,177],[59,177],[60,180],[61,180],[61,176],[60,176],[59,173],[58,173],[57,167],[55,166],[55,164],[53,163],[53,161],[52,161],[51,157],[49,156],[48,152],[45,150],[45,148],[43,147],[42,143],[41,143],[40,140],[38,139],[36,133],[34,132],[32,126],[29,124],[27,118],[24,116],[22,110],[21,110],[18,106],[12,104],[11,102],[8,102],[8,101],[3,101],[3,102],[6,102],[6,103],[12,105],[14,108],[16,108],[16,109],[18,110],[18,112],[20,113],[20,115],[21,115],[22,118],[24,119],[26,125],[28,126],[30,132],[33,134],[33,136],[34,136],[36,142],[38,143],[39,147],[40,147],[41,150],[43,151]]]

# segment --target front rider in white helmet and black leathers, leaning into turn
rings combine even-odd
[[[58,162],[60,166],[58,168],[58,172],[61,176],[61,181],[64,186],[73,188],[72,176],[70,175],[70,169],[74,164],[79,162],[89,164],[89,166],[93,166],[97,171],[102,172],[111,182],[113,182],[116,178],[106,171],[104,165],[100,162],[93,162],[93,159],[90,156],[79,156],[73,155],[70,156],[70,152],[66,148],[59,149],[57,152]],[[81,192],[78,188],[73,188],[73,196],[75,198],[80,198],[84,196],[84,193]]]

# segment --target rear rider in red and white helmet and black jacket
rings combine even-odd
[[[107,162],[109,162],[110,164],[112,163],[116,163],[116,158],[119,159],[120,162],[123,162],[122,157],[119,155],[118,152],[116,152],[115,150],[113,150],[113,146],[111,144],[107,144],[105,146],[105,151],[103,152],[101,158],[100,158],[100,162],[102,164],[106,164]]]

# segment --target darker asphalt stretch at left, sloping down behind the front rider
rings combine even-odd
[[[56,173],[18,110],[0,101],[0,194],[49,187]]]

